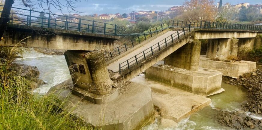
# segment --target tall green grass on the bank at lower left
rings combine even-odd
[[[14,71],[12,62],[23,48],[0,47],[1,130],[90,130],[96,129],[53,103],[56,96],[32,94],[28,81]]]

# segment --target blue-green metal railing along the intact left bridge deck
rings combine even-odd
[[[0,12],[2,13],[2,11]],[[45,14],[47,14],[48,17],[45,17]],[[39,15],[42,16],[39,17]],[[38,26],[44,28],[65,29],[115,36],[123,36],[122,32],[125,31],[116,24],[114,25],[94,20],[86,20],[77,17],[69,17],[16,7],[12,7],[10,17],[11,19],[9,20],[9,23],[12,24],[26,24],[28,26]]]

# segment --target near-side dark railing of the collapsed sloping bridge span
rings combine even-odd
[[[182,29],[176,31],[175,33],[171,34],[167,38],[159,41],[155,45],[145,49],[144,51],[140,52],[139,54],[135,55],[127,59],[126,61],[119,63],[119,73],[131,69],[135,65],[139,65],[141,62],[145,61],[149,57],[154,56],[154,54],[160,52],[164,48],[169,47],[173,44],[173,42],[178,41],[182,37],[186,35],[186,33],[190,32],[190,25],[188,27],[183,27]]]

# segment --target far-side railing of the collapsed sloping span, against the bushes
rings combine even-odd
[[[136,34],[137,37],[135,37],[134,39],[132,39],[128,42],[125,42],[123,45],[120,45],[120,46],[114,48],[112,52],[104,53],[105,60],[109,61],[109,60],[121,55],[122,53],[128,51],[129,49],[134,48],[134,46],[140,44],[141,42],[146,41],[150,37],[153,37],[155,34],[158,34],[158,32],[163,31],[167,27],[168,27],[167,24],[161,24],[159,26],[151,28],[147,32]]]

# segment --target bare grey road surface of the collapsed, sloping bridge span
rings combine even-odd
[[[110,63],[107,66],[107,69],[109,70],[113,70],[114,72],[119,71],[119,63],[122,63],[126,60],[128,60],[131,57],[134,57],[135,55],[143,52],[144,50],[146,50],[147,48],[150,48],[151,46],[157,44],[158,42],[160,42],[161,40],[169,37],[171,34],[175,33],[176,31],[168,31],[164,34],[162,34],[161,36],[158,36],[157,38],[151,40],[150,42],[147,42],[146,44],[142,45],[140,48],[137,48],[134,51],[129,52],[128,54],[126,54],[125,56],[120,57],[119,59],[117,59],[116,61]],[[177,36],[174,36],[174,38],[176,38]],[[167,41],[170,42],[171,40]],[[131,59],[134,60],[134,59]]]

